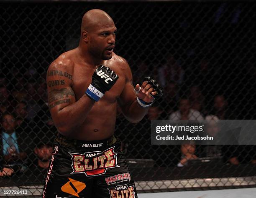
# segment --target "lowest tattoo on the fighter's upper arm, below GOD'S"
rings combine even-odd
[[[69,95],[75,96],[74,91],[71,88],[62,88],[60,90],[54,89],[48,93],[49,103],[53,103],[54,101],[62,98],[68,98]],[[70,99],[69,99],[69,102],[70,102]]]

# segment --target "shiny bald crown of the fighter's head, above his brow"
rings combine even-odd
[[[110,23],[114,22],[108,13],[99,9],[89,10],[82,18],[81,31],[86,30],[90,32],[94,28]]]

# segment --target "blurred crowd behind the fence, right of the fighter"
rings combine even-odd
[[[256,147],[237,145],[238,143],[196,145],[190,141],[183,145],[151,145],[147,153],[142,154],[143,148],[148,148],[146,146],[151,144],[151,120],[207,120],[217,124],[218,120],[253,119],[254,115],[251,111],[253,104],[250,108],[243,106],[243,102],[236,106],[237,102],[233,100],[232,90],[220,83],[220,79],[225,78],[225,75],[221,76],[219,71],[212,67],[207,57],[197,60],[196,64],[191,64],[188,68],[183,68],[172,54],[166,56],[166,61],[160,65],[146,63],[146,61],[139,61],[135,65],[134,84],[141,83],[145,75],[153,76],[164,88],[164,96],[161,101],[149,108],[146,117],[138,124],[126,122],[121,112],[119,113],[118,130],[132,131],[128,138],[123,136],[130,141],[126,144],[128,158],[134,158],[134,156],[153,158],[159,166],[178,167],[193,163],[200,164],[203,159],[212,161],[216,165],[218,163],[220,166],[256,164]],[[195,67],[192,68],[192,66]],[[247,78],[246,73],[243,76],[239,75],[241,79]],[[249,79],[250,77],[247,80]],[[248,85],[248,82],[251,84]],[[250,87],[255,84],[254,81],[248,82],[244,83],[244,86]],[[251,89],[248,92],[251,93]],[[234,93],[236,93],[235,90]],[[241,101],[245,97],[243,95]],[[247,113],[243,113],[243,109],[247,109]],[[213,132],[209,131],[209,133]]]

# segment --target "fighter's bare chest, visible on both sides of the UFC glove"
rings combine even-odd
[[[112,66],[108,64],[105,64],[105,66],[110,67],[111,70],[114,70],[115,73],[119,76],[119,78],[115,85],[113,85],[113,87],[105,93],[104,97],[101,100],[115,102],[123,91],[125,85],[125,75],[117,66]],[[72,88],[74,90],[77,100],[79,100],[79,98],[81,98],[82,95],[84,95],[88,86],[92,82],[92,75],[94,71],[94,69],[84,67],[84,65],[75,65]]]

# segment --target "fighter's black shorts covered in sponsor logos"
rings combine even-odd
[[[58,135],[43,198],[137,198],[120,140],[68,139]]]

